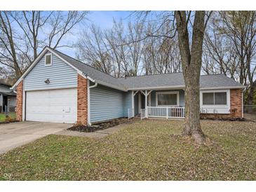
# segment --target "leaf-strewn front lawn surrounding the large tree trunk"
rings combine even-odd
[[[49,135],[1,155],[0,179],[256,179],[256,123],[201,121],[208,146],[181,137],[183,123],[135,121],[102,139]]]

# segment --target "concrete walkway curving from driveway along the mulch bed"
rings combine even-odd
[[[124,128],[126,124],[116,125],[113,128],[107,128],[105,130],[97,130],[95,132],[79,132],[74,130],[62,130],[60,132],[56,132],[55,135],[66,135],[66,136],[74,136],[74,137],[90,137],[100,139],[102,137],[106,137],[109,134],[117,132]]]

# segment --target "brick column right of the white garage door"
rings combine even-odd
[[[87,79],[77,76],[77,123],[87,124]]]

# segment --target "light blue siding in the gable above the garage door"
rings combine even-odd
[[[77,87],[77,72],[53,54],[52,65],[45,66],[45,57],[34,66],[24,80],[25,90],[47,90]],[[46,78],[50,83],[46,84]]]

